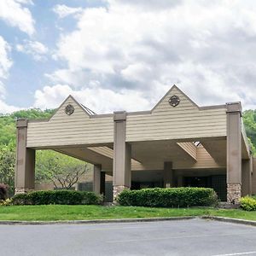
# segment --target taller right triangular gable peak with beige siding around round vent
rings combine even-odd
[[[170,99],[172,96],[177,96],[178,104],[176,107],[172,106],[172,101],[170,102]],[[155,112],[158,109],[161,108],[199,108],[195,102],[193,102],[189,96],[185,95],[182,90],[178,89],[176,85],[173,85],[170,90],[167,91],[166,95],[163,96],[160,99],[160,102],[158,102],[154,108],[151,110],[151,112]]]

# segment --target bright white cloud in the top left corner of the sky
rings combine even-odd
[[[32,1],[1,0],[0,19],[4,20],[10,26],[16,26],[20,31],[32,35],[35,32],[35,21],[32,18],[30,10],[24,7],[26,4],[32,4]]]

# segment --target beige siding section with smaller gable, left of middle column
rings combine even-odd
[[[71,115],[65,113],[67,104],[75,108]],[[67,98],[49,121],[28,123],[27,147],[90,143],[113,143],[113,118],[90,119],[72,97]]]

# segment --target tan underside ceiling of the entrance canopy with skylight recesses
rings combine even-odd
[[[162,170],[164,162],[173,163],[177,169],[216,168],[225,166],[225,141],[203,142],[200,151],[191,142],[176,141],[151,141],[131,143],[131,169],[132,170]],[[102,170],[113,172],[113,145],[84,145],[79,147],[55,148],[56,151],[68,154],[80,160],[85,160],[91,164],[101,164]],[[206,153],[201,157],[201,152]],[[199,154],[197,156],[197,154]],[[209,153],[209,154],[208,154]],[[198,159],[197,159],[198,157]],[[213,160],[213,159],[215,160]],[[203,161],[202,161],[203,160]],[[200,161],[200,163],[198,162]],[[218,163],[218,164],[217,164]]]

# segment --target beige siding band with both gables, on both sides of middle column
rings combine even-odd
[[[175,108],[168,102],[172,95],[180,98]],[[65,113],[67,104],[75,107],[72,115]],[[128,113],[126,142],[225,137],[225,111],[199,108],[174,86],[151,112]],[[113,143],[113,115],[90,116],[71,96],[49,121],[28,123],[30,148],[96,143]]]

